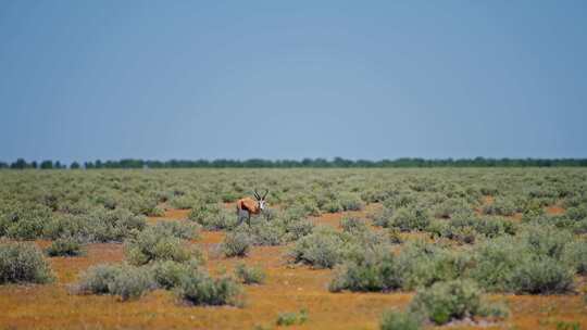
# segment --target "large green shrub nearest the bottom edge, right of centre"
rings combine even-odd
[[[428,289],[419,290],[409,310],[425,316],[436,325],[446,325],[452,319],[479,315],[480,291],[470,280],[438,282]]]

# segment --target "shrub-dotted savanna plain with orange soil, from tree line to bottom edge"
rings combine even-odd
[[[0,329],[587,328],[584,168],[0,170]]]

